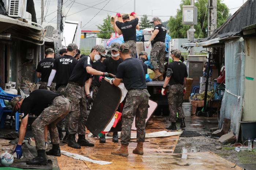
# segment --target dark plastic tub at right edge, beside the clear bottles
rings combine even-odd
[[[256,121],[240,121],[241,130],[243,136],[243,142],[251,138],[254,140],[256,138]]]

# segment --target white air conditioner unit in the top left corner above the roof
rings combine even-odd
[[[25,19],[27,0],[10,0],[8,8],[8,16]]]

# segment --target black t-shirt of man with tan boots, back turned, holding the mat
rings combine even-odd
[[[125,88],[146,89],[145,73],[141,61],[137,58],[127,58],[119,64],[116,78],[122,78]]]

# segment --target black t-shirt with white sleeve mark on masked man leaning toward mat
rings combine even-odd
[[[69,78],[69,81],[78,83],[79,85],[85,85],[85,81],[90,78],[90,74],[86,72],[86,67],[92,67],[93,63],[89,55],[85,55],[79,59],[77,65]]]

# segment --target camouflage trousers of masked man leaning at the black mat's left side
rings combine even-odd
[[[70,113],[68,114],[68,133],[85,135],[85,123],[88,115],[86,112],[84,86],[80,86],[74,82],[68,82],[65,93],[66,97],[72,101]]]

